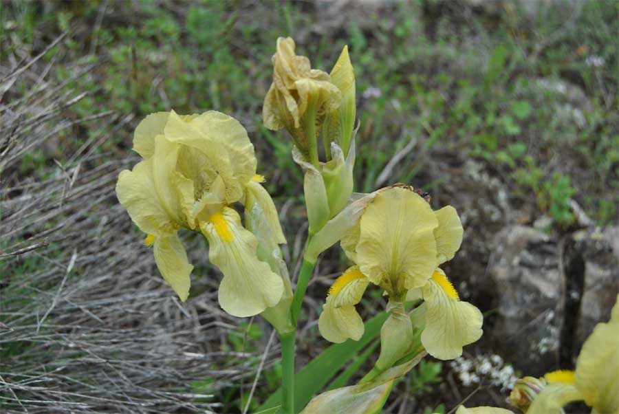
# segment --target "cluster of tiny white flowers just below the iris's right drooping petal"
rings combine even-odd
[[[473,359],[456,358],[450,362],[451,368],[458,374],[464,386],[479,384],[482,380],[494,386],[501,386],[501,391],[512,389],[517,377],[511,365],[506,365],[501,356],[492,354],[478,355]]]

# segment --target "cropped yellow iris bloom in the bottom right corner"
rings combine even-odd
[[[617,297],[619,302],[619,296]],[[562,413],[569,402],[583,400],[595,413],[619,413],[619,303],[608,323],[598,323],[576,361],[575,371],[554,371],[543,378],[518,380],[510,399],[527,414]],[[540,389],[535,393],[530,384]],[[533,392],[531,392],[533,391]],[[530,403],[530,406],[527,404]]]

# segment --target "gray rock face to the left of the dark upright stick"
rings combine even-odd
[[[499,306],[489,333],[519,369],[542,375],[558,362],[562,285],[557,245],[539,230],[510,226],[492,246],[488,270]]]

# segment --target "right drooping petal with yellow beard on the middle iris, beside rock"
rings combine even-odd
[[[442,270],[437,269],[422,288],[426,305],[426,327],[422,345],[439,360],[462,354],[462,347],[481,337],[484,317],[477,307],[461,302]]]

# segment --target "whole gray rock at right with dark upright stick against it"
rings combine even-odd
[[[573,368],[595,325],[609,319],[619,292],[619,228],[589,228],[571,237],[572,257],[563,258],[565,241],[560,249],[530,227],[504,228],[492,243],[488,274],[499,305],[486,334],[526,375]],[[569,268],[574,261],[580,270]]]

